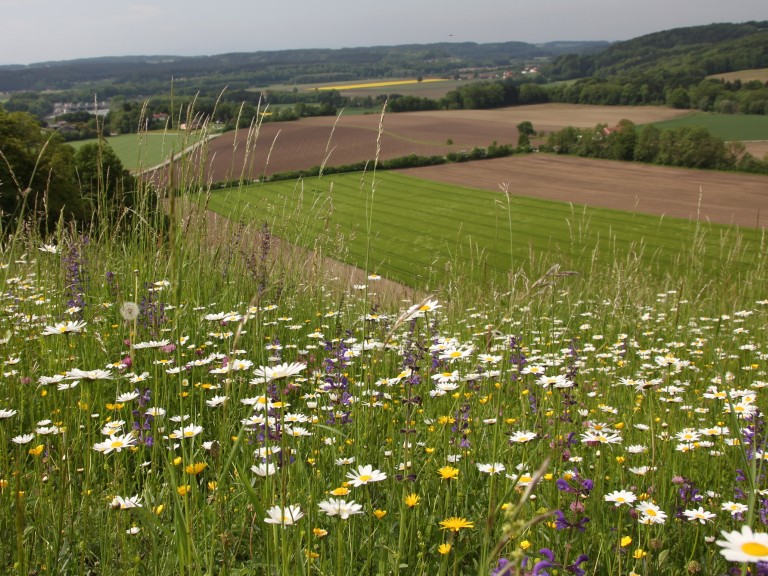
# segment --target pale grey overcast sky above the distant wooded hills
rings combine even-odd
[[[768,0],[0,0],[0,64],[429,42],[628,40]]]

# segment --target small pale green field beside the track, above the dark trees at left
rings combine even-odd
[[[120,158],[123,166],[128,170],[135,171],[162,164],[168,160],[171,154],[176,154],[195,144],[201,136],[199,133],[160,130],[108,136],[106,140]],[[71,142],[71,145],[77,149],[93,142],[96,140],[78,140]]]

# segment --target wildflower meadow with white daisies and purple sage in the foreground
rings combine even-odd
[[[176,200],[6,234],[3,573],[768,573],[762,249],[404,301]]]

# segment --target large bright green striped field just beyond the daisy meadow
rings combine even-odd
[[[268,221],[275,233],[416,287],[446,270],[475,281],[554,263],[594,272],[633,260],[657,276],[704,250],[701,266],[749,265],[757,232],[631,212],[574,207],[461,188],[385,172],[254,185],[212,194],[209,207],[234,221]],[[366,213],[370,214],[367,218]],[[736,237],[742,251],[731,253]],[[343,238],[343,253],[334,246]],[[319,239],[319,240],[318,240]],[[318,244],[319,242],[319,244]],[[535,254],[536,256],[532,256]],[[534,272],[535,273],[535,272]]]

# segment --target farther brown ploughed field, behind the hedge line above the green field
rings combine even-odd
[[[497,110],[441,110],[387,114],[382,124],[380,159],[409,154],[445,155],[475,146],[516,144],[515,126],[525,120],[538,131],[566,126],[609,126],[626,118],[636,124],[667,120],[686,111],[665,107],[606,107],[569,104],[516,106]],[[258,132],[227,133],[208,148],[206,180],[259,179],[276,172],[312,166],[339,166],[373,160],[380,115],[342,115],[297,122],[262,124]],[[448,141],[452,144],[448,144]]]

